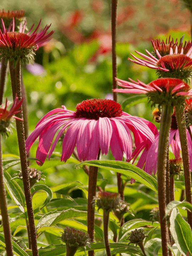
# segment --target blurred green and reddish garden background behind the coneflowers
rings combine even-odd
[[[32,73],[23,66],[23,82],[28,98],[28,113],[30,132],[33,131],[39,119],[54,108],[65,105],[75,111],[76,104],[90,98],[110,98],[112,96],[112,60],[111,60],[111,21],[109,0],[56,0],[56,1],[5,1],[0,2],[0,10],[25,10],[27,26],[35,23],[37,26],[42,18],[42,27],[52,23],[50,30],[55,30],[53,39],[36,52],[35,63],[43,66],[33,66]],[[145,49],[152,51],[151,38],[165,39],[171,34],[175,39],[185,34],[185,40],[190,39],[190,24],[187,9],[180,1],[165,0],[132,0],[118,2],[117,17],[117,65],[118,78],[127,80],[142,80],[148,83],[155,80],[155,70],[135,65],[127,60],[130,52]],[[30,63],[33,65],[33,63]],[[28,67],[29,69],[29,67]],[[41,69],[41,70],[40,70]],[[8,78],[5,97],[11,96],[10,79]],[[126,95],[119,95],[122,103]],[[152,109],[153,110],[153,109]],[[131,104],[124,111],[143,117],[153,123],[152,110],[147,101]],[[158,124],[157,124],[158,125]],[[159,128],[159,126],[157,126]],[[35,157],[37,143],[31,148],[31,156]],[[50,161],[47,159],[42,167],[33,162],[46,175],[46,185],[51,187],[61,183],[80,181],[85,187],[88,178],[85,172],[75,170],[78,161],[69,159],[66,164],[59,160],[61,145],[55,148]],[[16,131],[3,142],[4,160],[18,156]],[[11,155],[12,154],[12,155]],[[111,159],[108,153],[101,159]],[[17,165],[9,170],[11,176]],[[110,171],[100,170],[99,185],[106,185],[106,190],[117,192],[116,175]],[[22,186],[22,183],[18,181]],[[79,202],[79,209],[86,209],[86,197],[82,190],[63,190],[61,193],[70,195]],[[181,190],[176,191],[176,200],[180,198]],[[157,206],[157,195],[148,191],[139,183],[127,183],[125,198],[135,211],[135,218],[149,219],[150,210]],[[78,198],[83,198],[78,201]],[[84,200],[84,201],[82,201]],[[56,202],[57,201],[57,202]],[[53,205],[52,205],[53,204]],[[57,206],[57,207],[56,207]],[[74,207],[67,199],[58,199],[50,203],[49,210]],[[132,215],[128,219],[134,218]]]

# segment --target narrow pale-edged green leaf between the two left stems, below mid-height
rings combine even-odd
[[[20,186],[15,180],[11,180],[11,176],[7,171],[4,171],[4,182],[12,200],[17,204],[22,213],[24,213],[25,196]]]

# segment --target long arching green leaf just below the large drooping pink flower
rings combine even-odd
[[[113,160],[91,160],[91,161],[84,161],[78,165],[75,165],[75,169],[78,169],[81,165],[91,165],[91,166],[98,166],[102,167],[103,169],[112,170],[134,178],[135,180],[139,181],[140,183],[144,184],[145,186],[151,188],[155,192],[157,192],[157,181],[149,174],[134,166],[129,164],[128,162],[122,161],[113,161]]]

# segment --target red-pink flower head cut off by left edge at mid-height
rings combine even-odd
[[[2,104],[0,108],[0,134],[8,136],[8,133],[11,132],[10,127],[11,127],[13,118],[23,121],[23,119],[14,116],[14,114],[17,114],[18,112],[21,111],[19,109],[22,105],[22,102],[23,102],[23,99],[19,101],[16,95],[12,107],[10,108],[10,110],[7,110],[7,107],[9,106],[10,102],[7,101],[7,98],[6,98],[5,108],[4,108],[4,104]]]

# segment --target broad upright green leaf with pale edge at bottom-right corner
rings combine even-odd
[[[190,225],[182,218],[177,208],[174,208],[170,216],[170,231],[179,251],[186,256],[192,254],[192,233]]]

